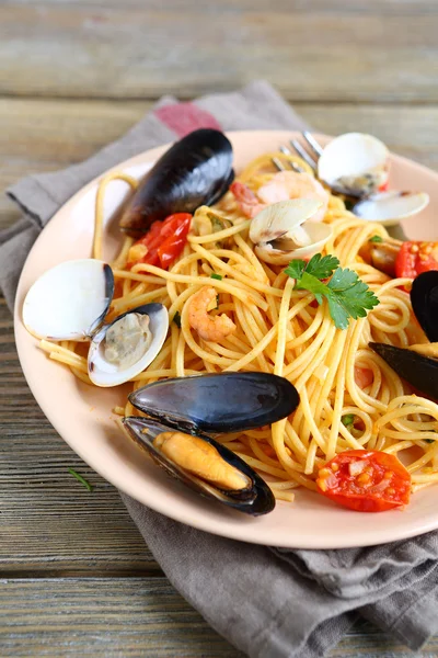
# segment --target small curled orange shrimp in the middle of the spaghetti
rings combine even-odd
[[[195,329],[203,340],[218,342],[235,331],[237,327],[227,314],[210,316],[208,310],[212,302],[216,302],[216,290],[205,285],[188,300],[188,324]]]

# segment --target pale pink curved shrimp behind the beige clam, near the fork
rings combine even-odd
[[[255,217],[266,206],[289,198],[316,198],[322,207],[312,219],[321,222],[327,212],[328,194],[316,179],[309,173],[279,171],[255,194],[247,185],[235,181],[231,188],[240,209],[246,217]]]

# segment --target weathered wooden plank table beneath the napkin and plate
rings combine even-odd
[[[437,35],[437,0],[3,1],[0,186],[87,158],[163,93],[255,77],[320,131],[370,132],[436,168]],[[0,225],[18,217],[1,196]],[[238,656],[44,418],[4,302],[0,314],[0,656]],[[438,640],[419,655],[438,656]],[[413,654],[359,624],[331,656]]]

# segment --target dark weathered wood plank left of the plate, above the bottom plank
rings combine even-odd
[[[35,402],[3,299],[0,373],[0,571],[159,572],[116,489],[64,443]],[[95,485],[94,491],[68,467]]]

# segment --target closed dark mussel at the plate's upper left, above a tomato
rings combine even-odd
[[[234,178],[232,158],[230,140],[220,131],[189,133],[145,175],[123,211],[122,230],[138,237],[157,219],[216,203]]]

